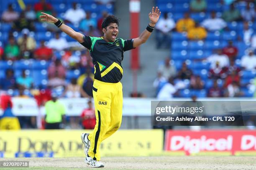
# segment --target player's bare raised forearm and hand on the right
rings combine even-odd
[[[161,12],[159,8],[156,7],[155,9],[155,7],[152,7],[152,12],[148,14],[148,18],[150,20],[150,23],[148,24],[149,30],[150,28],[152,29],[155,27],[157,21],[159,20],[160,15]],[[149,32],[147,29],[145,29],[139,37],[133,39],[133,47],[135,48],[145,43],[148,40],[151,33],[152,32]]]

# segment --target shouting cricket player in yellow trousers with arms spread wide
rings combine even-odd
[[[95,72],[92,91],[95,103],[96,125],[92,133],[81,135],[84,143],[85,162],[92,167],[104,167],[100,162],[100,143],[115,133],[121,125],[123,91],[120,82],[123,76],[121,62],[123,52],[132,50],[148,40],[161,12],[152,7],[148,14],[150,23],[137,38],[117,38],[119,19],[109,15],[102,22],[102,37],[89,37],[74,31],[52,15],[42,13],[42,21],[54,23],[61,31],[77,40],[90,51]]]

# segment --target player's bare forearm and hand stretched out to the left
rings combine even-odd
[[[58,21],[58,19],[55,18],[52,15],[49,15],[49,14],[46,14],[46,13],[42,13],[42,14],[43,15],[40,15],[41,21],[46,21],[48,23],[56,23]],[[83,35],[79,32],[74,31],[69,26],[67,26],[65,24],[62,24],[59,28],[60,28],[61,31],[65,32],[67,35],[74,38],[78,42],[84,42]]]

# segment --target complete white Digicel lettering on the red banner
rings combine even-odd
[[[231,150],[233,145],[232,135],[227,138],[213,139],[202,135],[200,138],[191,138],[190,136],[172,136],[171,150],[185,150],[189,153],[198,153],[205,151],[224,151]]]

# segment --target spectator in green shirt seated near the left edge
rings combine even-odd
[[[20,48],[16,44],[14,37],[9,37],[9,44],[5,47],[5,60],[18,60]]]

